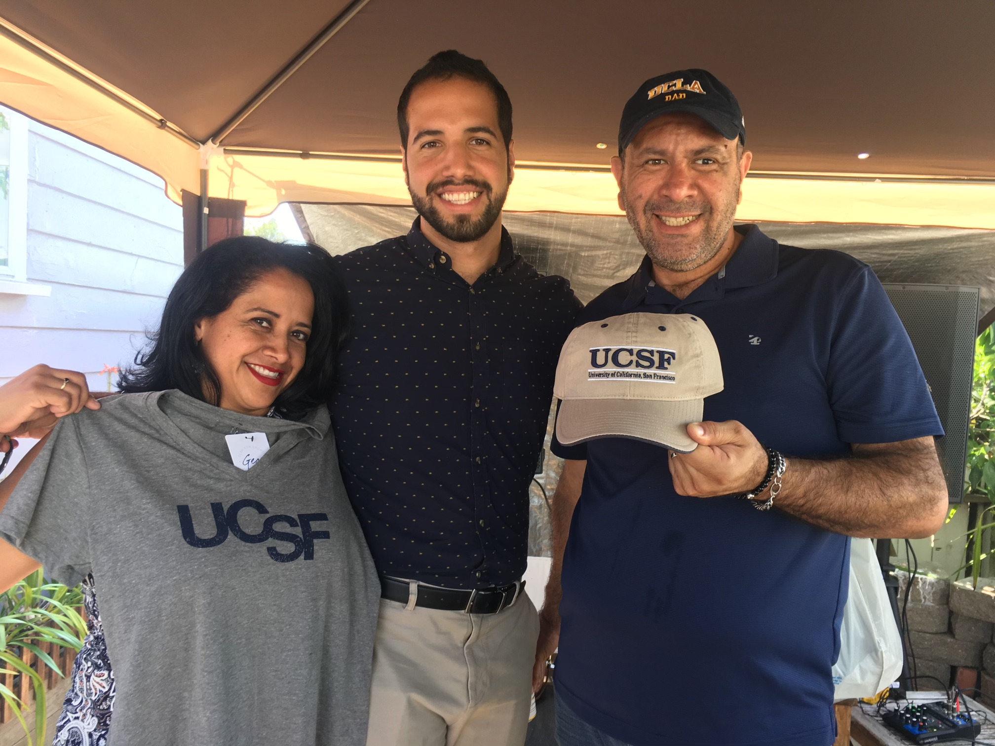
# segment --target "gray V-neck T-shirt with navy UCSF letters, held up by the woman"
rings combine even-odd
[[[327,410],[250,417],[178,391],[62,420],[0,536],[93,573],[116,696],[109,746],[362,746],[380,586]],[[266,433],[234,466],[225,436]]]

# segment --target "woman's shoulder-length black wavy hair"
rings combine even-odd
[[[224,239],[201,253],[173,285],[159,328],[148,346],[124,369],[117,387],[124,393],[179,389],[218,406],[221,382],[194,335],[202,318],[217,316],[262,276],[283,269],[306,280],[314,293],[314,315],[304,365],[275,402],[296,420],[331,399],[338,352],[348,336],[345,284],[334,259],[313,244],[277,244],[257,236]],[[205,396],[205,390],[209,392]]]

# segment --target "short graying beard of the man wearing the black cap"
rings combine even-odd
[[[691,272],[692,270],[697,270],[699,267],[703,267],[714,259],[715,255],[721,251],[722,246],[725,244],[729,228],[735,220],[736,207],[739,202],[739,187],[737,186],[736,193],[732,199],[721,206],[721,212],[718,214],[715,214],[711,205],[706,202],[679,203],[660,201],[647,202],[643,207],[642,214],[639,214],[629,208],[625,187],[620,188],[619,191],[622,195],[622,204],[626,208],[626,218],[629,220],[629,225],[632,226],[636,238],[643,245],[643,249],[646,250],[650,261],[657,267],[670,272]],[[652,222],[658,220],[654,215],[655,212],[700,213],[697,220],[705,221],[706,224],[710,222],[710,225],[706,225],[705,230],[701,233],[695,247],[696,251],[690,257],[674,259],[673,256],[669,255],[667,247],[659,241],[652,230]]]

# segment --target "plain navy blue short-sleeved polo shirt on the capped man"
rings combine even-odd
[[[736,230],[724,271],[684,300],[652,282],[647,260],[577,323],[695,314],[725,383],[704,419],[738,420],[788,455],[942,434],[867,265]],[[662,447],[609,438],[553,452],[587,460],[563,561],[567,705],[635,746],[829,746],[849,538],[734,497],[683,497]]]

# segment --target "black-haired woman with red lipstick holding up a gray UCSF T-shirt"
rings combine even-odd
[[[346,318],[320,249],[220,242],[0,513],[0,588],[95,579],[111,746],[365,742],[379,583],[324,406]]]

